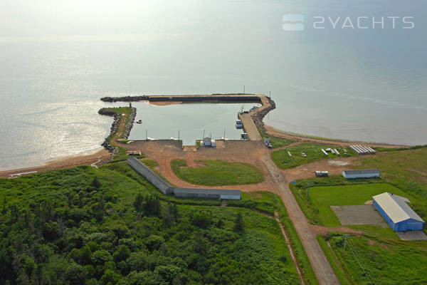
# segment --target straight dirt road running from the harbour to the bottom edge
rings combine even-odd
[[[289,217],[297,230],[308,259],[310,259],[313,271],[315,271],[317,281],[319,281],[319,284],[321,285],[338,285],[339,281],[337,276],[335,276],[330,263],[327,261],[322,248],[317,242],[316,233],[312,231],[307,218],[298,206],[295,197],[292,195],[292,192],[288,187],[288,182],[285,180],[285,177],[283,177],[273,160],[270,159],[270,156],[265,155],[261,160],[268,168],[270,176],[273,177],[273,180],[278,187],[283,203],[288,210]]]

